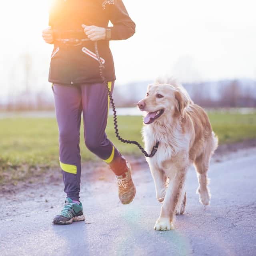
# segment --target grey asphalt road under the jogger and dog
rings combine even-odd
[[[175,229],[155,231],[160,203],[146,164],[134,166],[137,195],[118,202],[114,175],[84,171],[81,200],[86,222],[53,225],[64,193],[61,182],[40,184],[0,198],[0,255],[256,255],[256,148],[215,157],[212,200],[204,208],[192,167],[187,206]]]

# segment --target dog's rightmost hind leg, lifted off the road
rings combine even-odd
[[[208,188],[207,171],[209,169],[210,155],[207,152],[198,156],[194,162],[198,177],[198,189],[196,193],[199,194],[199,201],[201,204],[208,205],[210,203],[210,190]]]

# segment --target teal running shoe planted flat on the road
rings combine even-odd
[[[76,204],[72,202],[71,198],[66,198],[65,206],[60,212],[60,215],[57,215],[53,224],[67,225],[72,224],[73,221],[82,221],[85,220],[83,213],[82,203]]]

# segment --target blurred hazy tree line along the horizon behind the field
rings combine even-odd
[[[255,88],[242,88],[238,80],[232,80],[225,84],[219,82],[218,98],[214,99],[210,93],[210,85],[207,83],[197,85],[184,85],[192,100],[202,107],[208,108],[242,108],[256,107]],[[122,86],[114,90],[114,100],[117,107],[134,107],[138,100],[144,98],[146,85],[138,90],[138,84],[130,85],[129,94],[123,91]],[[128,85],[129,88],[129,85]],[[132,89],[134,88],[134,90]],[[54,110],[53,97],[49,92],[32,92],[29,87],[24,91],[9,97],[7,103],[0,103],[0,110],[26,111],[26,110]]]

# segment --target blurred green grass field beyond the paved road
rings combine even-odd
[[[256,138],[256,114],[214,112],[209,117],[220,144]],[[118,124],[123,138],[142,143],[140,116],[119,116]],[[112,117],[106,132],[122,154],[142,156],[136,146],[116,139]],[[84,146],[82,125],[80,133],[82,160],[98,159]],[[58,127],[54,118],[0,119],[0,183],[6,179],[20,180],[28,174],[40,175],[54,166],[58,166]]]

